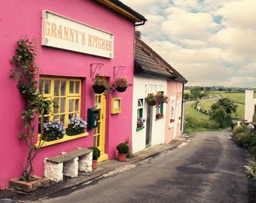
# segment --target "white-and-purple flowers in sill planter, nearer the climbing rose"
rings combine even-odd
[[[65,126],[59,120],[44,123],[43,140],[55,141],[63,138],[65,135]]]

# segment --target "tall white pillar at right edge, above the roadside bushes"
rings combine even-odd
[[[255,114],[256,99],[253,98],[253,89],[245,90],[245,120],[248,123],[252,122],[253,115]]]

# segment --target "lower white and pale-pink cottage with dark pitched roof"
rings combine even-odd
[[[183,90],[187,80],[164,61],[136,32],[133,80],[133,152],[169,143],[181,135]],[[145,97],[163,92],[168,104],[150,106]],[[137,118],[145,119],[138,126]]]

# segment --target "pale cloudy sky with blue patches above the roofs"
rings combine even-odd
[[[188,82],[256,87],[256,0],[120,0],[148,21],[136,29]]]

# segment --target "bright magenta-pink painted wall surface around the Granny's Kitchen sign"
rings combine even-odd
[[[67,50],[59,50],[50,47],[41,47],[41,11],[48,10],[65,17],[78,20],[90,26],[111,32],[114,34],[114,59],[105,59],[99,56],[90,56],[84,53],[75,53]],[[133,44],[134,25],[132,22],[112,13],[103,6],[91,2],[74,0],[62,1],[38,1],[27,0],[26,2],[14,0],[3,0],[0,7],[0,95],[2,127],[0,128],[0,189],[8,186],[8,180],[12,177],[20,177],[22,169],[20,164],[25,163],[26,149],[22,140],[18,137],[23,132],[23,123],[20,114],[23,111],[23,102],[16,83],[9,78],[11,68],[14,64],[10,59],[14,56],[17,41],[20,38],[35,38],[38,42],[38,56],[36,62],[43,74],[84,78],[82,87],[81,117],[87,120],[87,108],[94,106],[94,93],[90,79],[90,63],[102,62],[104,64],[101,74],[110,77],[114,81],[114,66],[126,66],[123,75],[128,77],[130,83],[133,81]],[[106,112],[106,151],[110,159],[117,156],[116,145],[131,138],[132,135],[132,88],[126,92],[111,93],[107,102]],[[121,97],[122,113],[110,114],[111,97]],[[43,175],[43,159],[45,157],[59,155],[62,151],[72,151],[78,147],[89,147],[93,145],[93,130],[89,136],[68,141],[53,146],[44,147],[35,159],[35,174]]]

